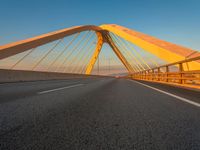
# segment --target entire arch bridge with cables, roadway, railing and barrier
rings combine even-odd
[[[200,52],[115,24],[0,46],[0,148],[199,149]]]

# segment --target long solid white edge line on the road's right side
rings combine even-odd
[[[160,93],[164,93],[164,94],[166,94],[166,95],[169,95],[169,96],[171,96],[171,97],[174,97],[174,98],[176,98],[176,99],[179,99],[179,100],[181,100],[181,101],[183,101],[183,102],[189,103],[189,104],[191,104],[191,105],[200,107],[200,104],[199,104],[199,103],[193,102],[192,100],[189,100],[189,99],[187,99],[187,98],[183,98],[183,97],[174,95],[174,94],[172,94],[172,93],[168,93],[168,92],[166,92],[166,91],[157,89],[157,88],[155,88],[155,87],[152,87],[152,86],[143,84],[143,83],[138,82],[138,81],[134,81],[134,80],[130,80],[130,81],[135,82],[135,83],[138,83],[138,84],[141,84],[141,85],[143,85],[143,86],[145,86],[145,87],[148,87],[148,88],[150,88],[150,89],[156,90],[156,91],[158,91],[158,92],[160,92]]]

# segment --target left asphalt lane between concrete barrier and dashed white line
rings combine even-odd
[[[67,80],[48,80],[33,82],[16,82],[0,84],[0,103],[16,100],[37,94],[37,92],[70,86],[88,81],[98,81],[101,78],[73,78]]]

